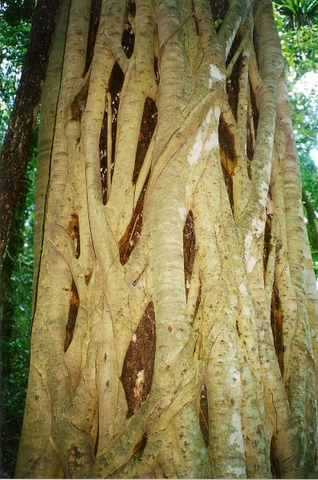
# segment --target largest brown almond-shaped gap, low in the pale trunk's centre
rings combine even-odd
[[[155,351],[155,311],[150,302],[132,335],[120,378],[127,400],[127,418],[139,410],[150,392]]]

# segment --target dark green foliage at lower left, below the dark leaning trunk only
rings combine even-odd
[[[35,150],[1,268],[1,467],[14,474],[29,371],[32,318]]]

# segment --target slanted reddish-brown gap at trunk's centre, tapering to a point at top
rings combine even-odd
[[[143,217],[143,208],[144,208],[144,198],[147,190],[148,180],[150,172],[146,178],[145,184],[140,192],[138,202],[134,213],[131,217],[131,220],[126,228],[126,231],[122,238],[119,240],[119,258],[122,265],[125,265],[127,260],[130,257],[131,252],[135,248],[142,229],[142,217]]]

